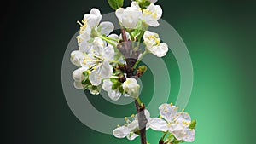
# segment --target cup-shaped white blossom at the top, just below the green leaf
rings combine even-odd
[[[142,16],[142,11],[134,7],[127,7],[117,9],[115,14],[125,28],[134,29]]]

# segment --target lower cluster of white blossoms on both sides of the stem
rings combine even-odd
[[[195,120],[191,118],[187,112],[177,112],[178,107],[171,104],[162,104],[159,107],[160,118],[150,118],[150,113],[145,110],[145,116],[148,120],[146,130],[163,131],[169,136],[166,142],[174,141],[192,142],[195,139]],[[131,115],[131,120],[125,117],[126,124],[119,126],[113,130],[113,135],[117,138],[126,137],[128,140],[134,140],[138,135],[139,125],[137,115]]]

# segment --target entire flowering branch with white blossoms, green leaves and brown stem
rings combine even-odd
[[[76,89],[90,90],[92,95],[99,95],[103,89],[113,101],[122,95],[134,99],[137,114],[125,117],[126,124],[113,130],[117,138],[134,140],[150,128],[164,132],[160,139],[163,144],[194,141],[195,121],[191,121],[188,113],[177,112],[178,108],[172,104],[162,104],[160,118],[151,118],[139,99],[141,86],[137,78],[147,70],[147,66],[137,66],[140,60],[148,53],[163,57],[168,52],[168,45],[161,41],[159,34],[148,31],[148,26],[160,25],[162,9],[156,1],[132,0],[130,6],[123,8],[123,0],[108,0],[116,10],[121,26],[119,34],[113,33],[112,22],[102,21],[99,9],[84,14],[83,20],[78,21],[79,49],[70,55],[71,62],[77,66],[73,71],[73,85]],[[145,144],[145,136],[142,137],[141,143]]]

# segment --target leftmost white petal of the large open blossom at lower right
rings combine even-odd
[[[157,130],[157,131],[168,130],[166,121],[161,118],[150,118],[148,121],[148,125],[153,130]]]

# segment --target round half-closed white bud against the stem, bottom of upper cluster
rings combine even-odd
[[[137,98],[139,95],[140,85],[137,84],[137,80],[135,78],[126,78],[123,84],[123,89],[126,94],[133,98]]]

